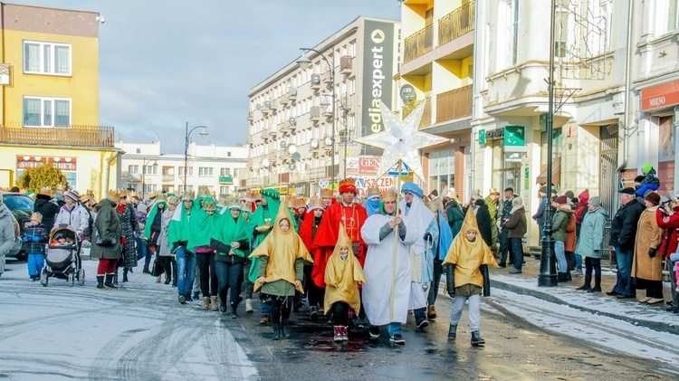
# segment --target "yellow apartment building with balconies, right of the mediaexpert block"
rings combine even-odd
[[[424,187],[441,195],[454,189],[463,199],[472,187],[476,6],[473,0],[406,0],[401,11],[401,115],[406,118],[424,102],[420,129],[450,139],[450,144],[423,150]]]

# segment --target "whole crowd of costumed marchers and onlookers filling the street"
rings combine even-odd
[[[673,300],[667,310],[678,312],[679,194],[663,201],[655,170],[644,170],[636,188],[619,190],[609,243],[604,242],[609,215],[587,189],[578,197],[571,191],[548,197],[541,187],[532,219],[541,236],[551,218],[559,282],[584,275],[576,290],[601,292],[601,259],[610,245],[618,271],[607,295],[636,298],[638,289],[646,290],[640,302],[663,302],[663,265],[671,263]],[[379,338],[383,327],[391,342],[405,344],[402,325],[409,313],[420,331],[437,318],[445,273],[446,292],[454,298],[448,338],[456,338],[466,304],[471,343],[483,344],[479,302],[482,294],[490,295],[488,267],[509,263],[510,274],[522,271],[528,229],[523,200],[512,187],[503,197],[494,188],[485,198],[477,192],[464,205],[454,194],[426,196],[412,182],[399,193],[373,187],[359,198],[351,178],[339,182],[339,197],[321,189],[309,200],[282,197],[274,189],[240,199],[217,199],[199,189],[197,196],[152,193],[142,200],[114,189],[97,202],[89,191],[81,196],[57,188],[53,195],[43,188],[34,195],[22,238],[33,281],[43,267],[49,232],[68,225],[80,242],[89,243],[91,259],[99,260],[98,289],[117,289],[120,268],[124,283],[143,259],[142,273],[157,282],[164,276],[182,305],[196,300],[202,310],[238,319],[243,301],[244,311],[253,313],[256,296],[260,324],[273,326],[273,339],[290,336],[291,313],[306,301],[312,320],[332,321],[335,341],[348,340],[349,327],[363,326],[370,338]],[[3,206],[0,202],[0,225]]]

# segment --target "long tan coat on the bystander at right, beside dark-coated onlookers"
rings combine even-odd
[[[663,256],[657,249],[663,241],[663,229],[655,222],[655,210],[652,206],[642,212],[636,229],[635,257],[632,262],[632,277],[647,281],[663,280]],[[650,251],[655,250],[653,258]]]

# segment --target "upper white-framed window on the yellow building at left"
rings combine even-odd
[[[71,45],[24,41],[24,72],[71,75]]]

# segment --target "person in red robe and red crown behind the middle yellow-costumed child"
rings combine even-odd
[[[325,281],[323,280],[325,265],[337,244],[339,224],[343,223],[346,227],[347,235],[349,235],[352,243],[352,250],[356,253],[360,265],[363,266],[366,261],[368,245],[363,241],[360,229],[368,219],[368,212],[365,207],[354,202],[357,191],[353,178],[345,178],[339,181],[339,195],[341,201],[326,208],[323,219],[320,221],[318,233],[313,240],[317,250],[311,278],[321,288],[325,288]]]

